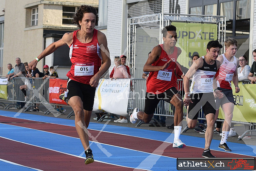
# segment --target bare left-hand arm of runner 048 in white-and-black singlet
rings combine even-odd
[[[198,68],[201,68],[202,66],[203,66],[203,58],[200,57],[193,62],[193,64],[189,68],[188,72],[184,76],[183,83],[184,83],[185,95],[189,94],[189,79],[191,77],[193,77],[193,75],[196,73]],[[185,96],[183,102],[184,102],[184,105],[187,106],[192,101],[191,101],[191,98],[186,98],[186,96]]]

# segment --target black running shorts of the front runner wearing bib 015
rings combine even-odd
[[[74,80],[69,80],[67,84],[68,99],[79,96],[83,102],[84,110],[92,111],[96,88],[89,84],[83,84]]]

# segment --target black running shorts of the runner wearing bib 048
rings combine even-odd
[[[203,109],[204,115],[216,112],[216,103],[213,92],[191,94],[191,101],[188,107],[188,118],[197,119],[198,112]]]

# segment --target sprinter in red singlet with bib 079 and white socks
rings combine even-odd
[[[177,42],[175,26],[166,26],[163,28],[162,34],[164,43],[153,48],[143,68],[144,72],[150,72],[147,79],[144,112],[139,112],[138,108],[135,108],[130,116],[130,121],[135,124],[136,120],[139,119],[149,123],[158,102],[163,99],[175,107],[174,141],[172,147],[184,148],[186,145],[180,140],[183,101],[176,89],[176,62],[173,61],[173,59],[176,60],[181,54],[181,49],[175,46]]]

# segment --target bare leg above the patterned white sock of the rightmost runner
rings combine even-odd
[[[225,114],[225,121],[222,126],[222,131],[229,131],[233,118],[234,103],[225,103],[222,105],[222,110]]]

